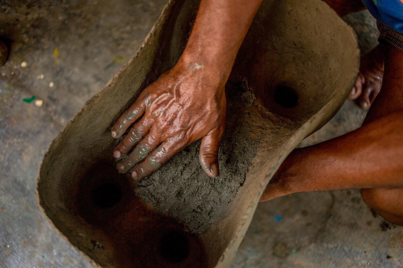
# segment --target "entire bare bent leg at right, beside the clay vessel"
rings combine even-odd
[[[388,221],[403,224],[402,89],[403,52],[387,45],[382,91],[363,126],[294,150],[261,201],[295,192],[364,188],[362,195],[369,206]]]

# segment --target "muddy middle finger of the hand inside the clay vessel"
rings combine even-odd
[[[160,144],[160,140],[155,138],[154,133],[151,131],[137,144],[133,152],[131,152],[126,159],[118,163],[118,170],[123,173],[129,171],[150,155]]]

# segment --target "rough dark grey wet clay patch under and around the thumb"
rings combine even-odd
[[[216,219],[225,217],[224,210],[243,185],[262,134],[268,133],[269,126],[273,125],[268,116],[278,119],[260,105],[247,82],[229,83],[226,95],[226,131],[219,153],[220,175],[216,178],[206,175],[199,163],[200,141],[197,141],[139,181],[135,188],[135,193],[144,202],[177,219],[194,233],[204,233]],[[262,124],[265,121],[266,124]],[[262,126],[260,130],[255,127],[257,123],[266,127]]]

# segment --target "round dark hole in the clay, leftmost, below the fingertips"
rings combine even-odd
[[[122,190],[116,185],[106,183],[98,186],[93,192],[93,200],[101,208],[111,208],[122,199]]]

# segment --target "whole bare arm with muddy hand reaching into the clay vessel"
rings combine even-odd
[[[182,148],[202,138],[200,163],[217,176],[218,149],[224,133],[224,86],[235,56],[262,0],[202,0],[195,25],[178,63],[143,90],[112,126],[121,172],[141,179]]]

